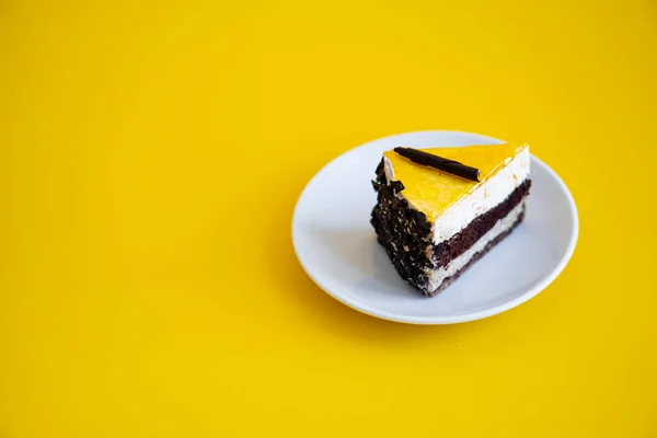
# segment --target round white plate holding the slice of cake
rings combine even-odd
[[[568,263],[577,242],[575,203],[561,178],[531,157],[525,221],[459,279],[426,298],[396,274],[376,240],[371,180],[381,152],[496,143],[476,134],[419,131],[371,141],[328,163],[308,183],[292,218],[292,241],[308,275],[345,304],[385,320],[452,324],[509,310],[534,297]]]

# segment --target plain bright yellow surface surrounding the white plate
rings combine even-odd
[[[0,437],[657,436],[656,54],[652,0],[0,1]],[[539,297],[408,326],[304,275],[308,180],[418,129],[563,176]]]

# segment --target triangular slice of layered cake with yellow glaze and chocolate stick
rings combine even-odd
[[[383,152],[371,223],[404,280],[434,296],[525,218],[529,147]]]

